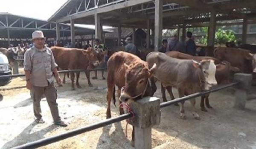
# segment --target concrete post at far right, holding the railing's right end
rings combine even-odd
[[[236,100],[234,107],[240,110],[244,110],[247,100],[247,90],[250,89],[252,83],[252,75],[246,73],[236,73],[234,81],[239,82],[236,86]]]

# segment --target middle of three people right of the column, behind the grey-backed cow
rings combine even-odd
[[[171,39],[168,41],[166,52],[169,51],[179,51],[185,53],[185,46],[179,41],[176,34],[172,35]]]

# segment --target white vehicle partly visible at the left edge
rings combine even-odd
[[[10,70],[9,61],[6,55],[0,52],[0,76],[11,75],[12,71]],[[0,86],[6,85],[10,82],[12,78],[3,78],[0,79]]]

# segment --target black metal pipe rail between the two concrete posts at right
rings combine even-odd
[[[170,106],[170,105],[173,105],[173,104],[177,104],[178,102],[186,101],[186,100],[189,100],[189,99],[192,99],[192,98],[204,96],[204,95],[207,95],[209,93],[213,93],[213,92],[216,92],[218,90],[222,90],[222,89],[227,88],[227,87],[235,86],[237,84],[238,84],[238,82],[233,82],[233,83],[226,84],[226,85],[216,86],[216,87],[213,87],[211,90],[205,90],[205,91],[200,92],[200,93],[194,93],[194,94],[184,96],[184,97],[181,97],[181,98],[176,98],[172,101],[163,102],[163,103],[160,104],[160,108],[167,107],[167,106]]]

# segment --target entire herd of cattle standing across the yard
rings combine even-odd
[[[116,48],[122,49],[122,48]],[[11,62],[13,56],[22,55],[25,50],[3,49],[0,52],[6,54]],[[107,118],[111,118],[110,104],[113,99],[115,104],[115,86],[117,87],[119,104],[121,102],[132,102],[139,100],[143,96],[153,96],[157,90],[156,82],[161,83],[161,93],[163,101],[166,100],[165,90],[168,91],[171,99],[175,97],[172,87],[177,88],[179,97],[188,96],[192,93],[209,90],[216,84],[229,83],[233,74],[256,73],[256,52],[241,48],[215,48],[213,56],[190,56],[185,53],[171,51],[167,53],[152,52],[152,49],[143,49],[140,56],[123,52],[122,50],[97,51],[93,48],[62,48],[51,47],[55,62],[62,70],[84,69],[88,85],[90,82],[90,72],[88,69],[96,67],[108,68],[107,76]],[[105,56],[109,57],[105,62]],[[68,75],[68,73],[67,73]],[[76,87],[79,84],[79,75],[76,73]],[[97,73],[93,79],[97,79]],[[70,73],[71,89],[75,90],[75,74]],[[104,71],[102,71],[102,79]],[[65,75],[63,79],[65,83]],[[192,115],[195,119],[200,119],[195,108],[195,99],[190,100],[192,105]],[[180,118],[186,118],[183,107],[184,102],[179,103]],[[201,110],[207,111],[212,108],[209,104],[209,95],[201,97]],[[120,114],[123,109],[119,106]],[[132,134],[134,141],[134,131]]]

